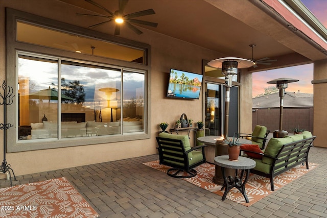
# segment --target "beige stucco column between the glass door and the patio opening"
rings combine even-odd
[[[240,82],[240,132],[252,133],[252,73],[242,69]]]

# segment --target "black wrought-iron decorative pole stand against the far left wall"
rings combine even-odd
[[[0,129],[4,130],[4,161],[2,162],[2,164],[0,165],[0,171],[4,174],[9,173],[10,176],[10,185],[12,186],[12,181],[11,181],[11,173],[10,170],[14,176],[14,179],[16,181],[16,176],[15,173],[13,171],[13,169],[10,167],[10,164],[7,164],[7,160],[6,160],[6,153],[7,153],[7,129],[9,129],[10,127],[12,127],[12,124],[7,124],[7,105],[11,105],[13,103],[13,98],[15,95],[13,94],[13,88],[11,86],[8,86],[8,93],[7,93],[7,83],[4,80],[4,83],[2,84],[2,88],[4,90],[4,94],[2,95],[0,93],[0,105],[4,105],[4,123],[0,124]]]

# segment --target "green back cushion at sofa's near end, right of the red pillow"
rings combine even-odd
[[[275,157],[279,152],[279,150],[281,150],[283,144],[287,144],[291,142],[293,142],[292,138],[271,138],[268,142],[264,154]],[[262,162],[267,164],[272,164],[273,159],[269,157],[263,157]]]

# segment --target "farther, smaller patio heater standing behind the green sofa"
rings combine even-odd
[[[283,104],[284,104],[285,89],[287,88],[288,83],[293,83],[297,81],[298,80],[291,79],[291,78],[279,78],[267,82],[268,84],[276,84],[276,88],[279,89],[279,97],[281,98],[281,105],[279,107],[279,129],[274,131],[273,133],[274,138],[283,138],[284,136],[288,135],[288,132],[283,130]]]

